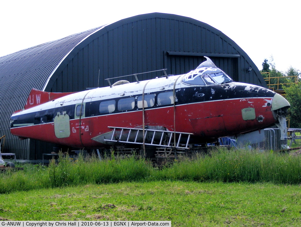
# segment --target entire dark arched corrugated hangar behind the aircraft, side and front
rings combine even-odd
[[[0,132],[8,134],[11,112],[23,107],[32,87],[70,92],[107,86],[108,77],[163,68],[168,74],[183,74],[196,68],[204,55],[234,80],[265,86],[255,64],[233,40],[208,24],[173,14],[138,15],[4,56]],[[160,75],[144,74],[140,80]],[[51,147],[26,141],[9,136],[5,148],[18,157],[41,159]]]

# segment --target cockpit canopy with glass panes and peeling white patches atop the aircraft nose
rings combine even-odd
[[[209,67],[190,71],[182,79],[183,83],[199,86],[223,84],[230,81],[232,81],[231,78],[219,68]]]

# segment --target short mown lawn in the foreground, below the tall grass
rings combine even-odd
[[[0,220],[165,220],[172,226],[299,226],[299,185],[151,181],[0,195]]]

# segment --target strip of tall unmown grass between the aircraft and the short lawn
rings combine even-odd
[[[301,156],[257,150],[218,149],[193,158],[172,160],[160,168],[144,159],[96,156],[72,159],[59,155],[48,167],[26,165],[24,171],[0,173],[0,193],[37,188],[77,186],[121,181],[222,181],[301,183]]]

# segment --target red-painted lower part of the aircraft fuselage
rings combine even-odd
[[[271,106],[266,105],[267,102],[272,103],[272,98],[225,99],[175,106],[175,127],[173,106],[147,109],[144,119],[145,125],[194,133],[194,138],[201,142],[209,138],[246,133],[272,125],[276,120]],[[244,108],[254,108],[256,118],[244,120],[241,113]],[[92,138],[110,132],[108,126],[136,128],[141,127],[142,122],[142,110],[138,110],[72,119],[70,136],[65,138],[56,137],[53,122],[11,128],[11,133],[70,147],[98,148],[106,145]]]

